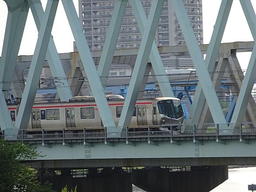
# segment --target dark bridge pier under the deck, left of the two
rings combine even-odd
[[[79,169],[77,169],[79,170]],[[81,169],[83,170],[83,169]],[[97,171],[97,168],[89,168],[87,174],[78,173],[76,177],[71,175],[70,168],[63,168],[55,171],[45,171],[41,175],[41,182],[50,181],[53,189],[60,192],[66,185],[69,190],[77,185],[77,192],[132,192],[131,174],[122,171],[122,168],[104,168]],[[58,173],[57,171],[57,173]]]

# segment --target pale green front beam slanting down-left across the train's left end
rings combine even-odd
[[[21,105],[14,126],[14,134],[17,134],[17,130],[21,128],[26,129],[28,127],[58,3],[59,0],[48,0],[47,2],[45,14],[38,33],[35,52],[28,72],[27,82],[22,94]]]

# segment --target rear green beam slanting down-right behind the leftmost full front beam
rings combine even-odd
[[[41,1],[38,1],[38,0],[28,0],[28,3],[31,8],[33,17],[34,17],[36,27],[39,32],[40,26],[41,26],[41,20],[44,15],[42,3],[41,3]],[[58,51],[55,47],[52,36],[50,38],[48,49],[46,52],[46,59],[48,60],[48,64],[51,69],[52,76],[53,77],[61,77],[62,86],[56,87],[56,89],[59,93],[60,100],[68,101],[72,97],[72,93],[69,89],[69,83],[68,83],[67,79],[65,79],[66,74],[63,70],[62,63],[60,62]]]

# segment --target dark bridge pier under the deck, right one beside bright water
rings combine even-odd
[[[138,169],[132,181],[146,192],[209,192],[228,179],[228,166],[191,167],[191,171]]]

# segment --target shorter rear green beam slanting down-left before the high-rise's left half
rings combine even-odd
[[[118,35],[121,29],[127,2],[128,0],[116,0],[114,4],[112,18],[108,27],[104,47],[100,57],[100,63],[98,66],[98,75],[100,76],[100,81],[103,88],[105,88],[107,84],[107,77],[113,61],[114,50],[118,41]]]

